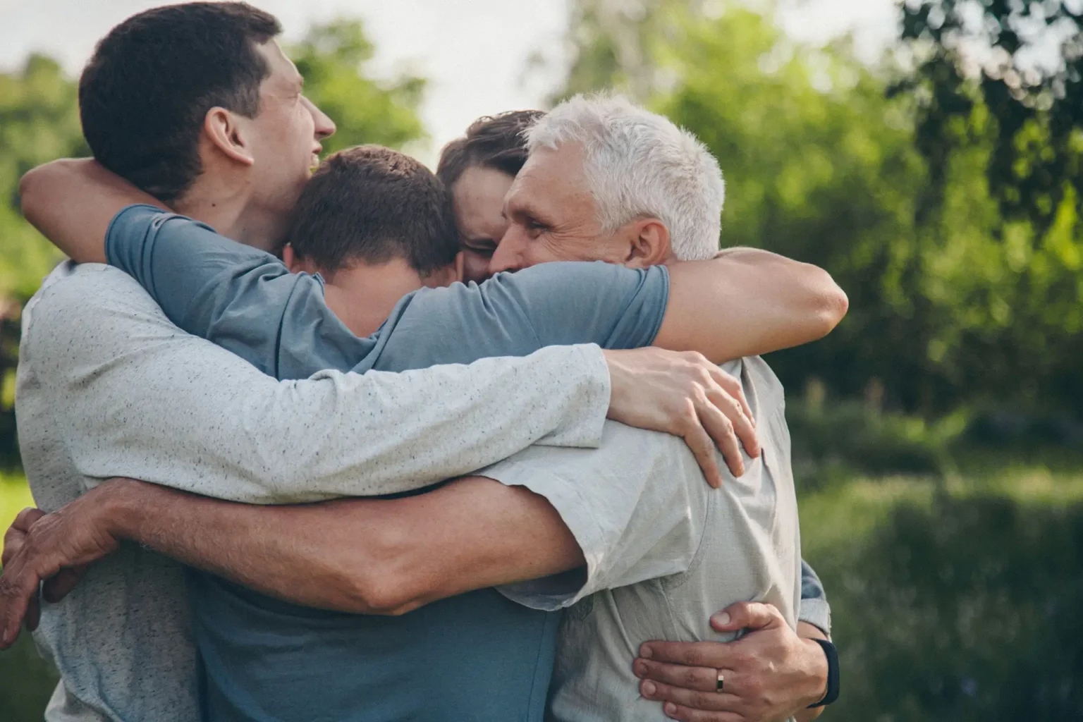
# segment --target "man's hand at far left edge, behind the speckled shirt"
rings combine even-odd
[[[51,514],[24,509],[15,517],[4,535],[0,649],[15,643],[22,623],[37,629],[41,582],[45,601],[58,602],[88,564],[116,551],[108,512],[108,490],[100,486]]]

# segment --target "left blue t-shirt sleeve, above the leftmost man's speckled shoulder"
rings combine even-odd
[[[327,307],[318,279],[183,215],[129,206],[109,224],[105,258],[181,329],[275,378],[348,370],[370,347]]]

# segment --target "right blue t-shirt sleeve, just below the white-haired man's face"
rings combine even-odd
[[[669,299],[666,268],[544,263],[484,284],[407,297],[381,329],[375,368],[404,370],[524,356],[550,345],[636,349],[654,342]]]

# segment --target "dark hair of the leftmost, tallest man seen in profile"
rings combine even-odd
[[[256,45],[280,31],[273,15],[244,2],[155,8],[109,30],[79,79],[94,157],[159,200],[175,200],[203,170],[207,111],[259,113],[270,69]]]

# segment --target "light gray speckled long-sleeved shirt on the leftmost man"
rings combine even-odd
[[[180,331],[128,275],[64,264],[23,316],[19,445],[47,511],[127,475],[256,503],[419,488],[531,444],[596,447],[597,346],[405,373],[276,381]],[[63,677],[51,722],[197,718],[181,567],[125,544],[35,634]]]

